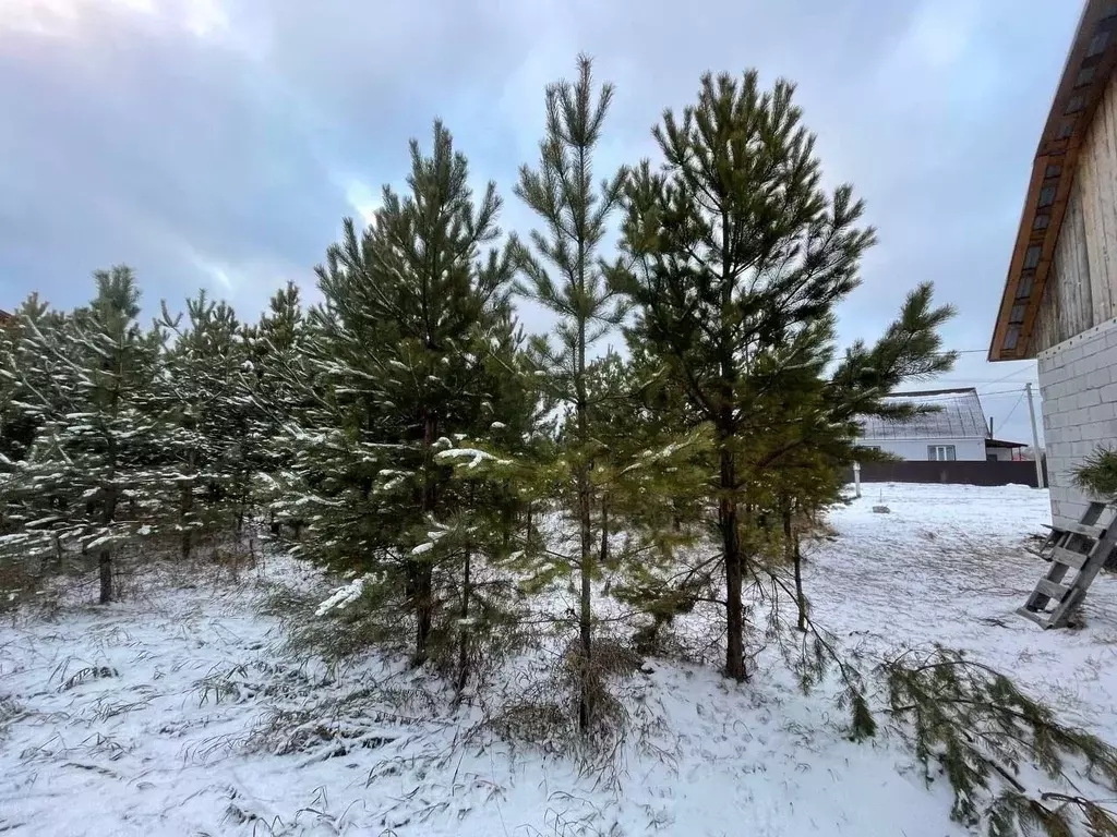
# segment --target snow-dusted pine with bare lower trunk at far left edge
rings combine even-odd
[[[137,324],[140,290],[128,268],[94,276],[97,296],[61,327],[21,324],[19,356],[39,359],[34,369],[17,365],[9,373],[27,387],[41,427],[6,485],[23,514],[0,546],[56,556],[79,546],[97,559],[104,604],[114,597],[114,555],[157,513],[154,382],[163,336]]]

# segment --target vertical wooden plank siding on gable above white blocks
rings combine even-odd
[[[1079,150],[1029,355],[1117,317],[1117,77]]]

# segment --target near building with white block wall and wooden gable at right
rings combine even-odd
[[[1089,0],[1039,137],[990,360],[1039,360],[1057,528],[1073,469],[1117,443],[1117,2]]]

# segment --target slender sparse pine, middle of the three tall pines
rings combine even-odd
[[[593,656],[592,581],[598,573],[592,521],[593,443],[591,439],[589,352],[620,323],[624,307],[605,285],[600,248],[607,221],[618,205],[626,172],[600,186],[593,181],[593,155],[612,100],[612,85],[594,94],[591,61],[579,58],[577,79],[546,89],[546,136],[537,169],[523,166],[516,194],[545,224],[531,235],[535,254],[521,249],[526,282],[521,290],[558,316],[557,346],[545,338],[536,350],[552,395],[569,407],[567,440],[562,451],[572,463],[574,517],[579,550],[570,565],[579,575],[579,642],[582,686],[579,725],[589,729],[593,714],[590,672]]]

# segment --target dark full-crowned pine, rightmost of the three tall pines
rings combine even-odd
[[[772,500],[765,471],[811,443],[803,433],[773,443],[770,393],[819,386],[818,367],[804,376],[802,358],[785,347],[810,345],[811,324],[857,287],[861,256],[873,243],[852,189],[822,190],[814,137],[793,90],[780,80],[762,92],[755,71],[739,80],[706,75],[681,118],[665,114],[655,136],[666,166],[656,172],[646,162],[630,181],[623,249],[632,269],[617,275],[638,308],[634,336],[657,353],[716,437],[710,500],[722,542],[725,673],[734,680],[746,676],[743,585],[758,529],[774,525],[761,519]],[[944,358],[949,365],[948,356],[927,354],[949,311],[924,306],[911,314],[911,339],[890,341],[891,357],[878,355],[887,366],[870,373],[858,360],[850,374],[865,376],[857,394],[900,369],[934,372]]]

